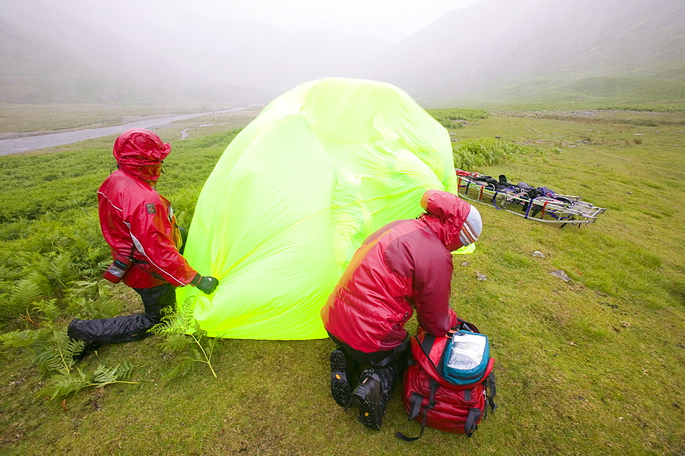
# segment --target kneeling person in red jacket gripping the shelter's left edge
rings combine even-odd
[[[210,294],[219,281],[203,277],[181,255],[182,234],[169,201],[155,190],[171,145],[145,129],[124,131],[114,142],[117,169],[97,191],[100,227],[114,262],[103,277],[136,290],[145,313],[69,323],[73,340],[84,340],[81,356],[102,344],[138,340],[176,303],[175,287],[192,285]]]

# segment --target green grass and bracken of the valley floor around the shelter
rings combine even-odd
[[[451,305],[490,338],[499,408],[472,438],[427,429],[417,442],[397,440],[396,431],[419,431],[416,422],[407,422],[399,392],[382,431],[364,428],[353,411],[345,414],[330,397],[328,340],[219,340],[214,379],[199,363],[172,377],[184,353],[169,351],[162,336],[155,336],[106,347],[82,363],[92,370],[130,362],[135,366],[130,380],[139,383],[84,389],[63,403],[36,395],[49,379],[38,375],[27,349],[0,350],[1,452],[681,454],[682,127],[590,125],[527,115],[495,114],[451,129],[455,149],[491,142],[525,150],[473,170],[578,194],[608,210],[595,225],[559,229],[478,206],[484,231],[475,253],[455,257]],[[173,151],[158,188],[185,225],[203,181],[237,133],[225,127],[184,141],[177,140],[178,130],[162,132]],[[88,268],[107,257],[95,190],[114,164],[112,140],[0,157],[5,331],[45,325],[32,303],[16,293],[29,273],[42,274],[42,288],[34,292],[57,299],[62,317],[54,325],[64,331],[71,316],[139,311],[125,286],[101,283],[99,293],[89,294],[73,284],[97,277]],[[536,250],[546,256],[533,257]],[[70,261],[49,271],[58,255],[69,255]],[[556,269],[571,281],[549,274]],[[488,279],[479,281],[476,273]],[[75,290],[66,292],[60,282]],[[22,283],[32,290],[31,281]]]

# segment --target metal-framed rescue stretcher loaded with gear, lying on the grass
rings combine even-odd
[[[456,169],[460,196],[489,204],[523,218],[565,225],[595,223],[606,209],[581,201],[580,197],[557,194],[546,187],[534,188],[525,182],[511,183],[505,175],[499,180],[480,173]]]

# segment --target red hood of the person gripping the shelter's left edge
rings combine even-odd
[[[127,173],[156,181],[162,174],[162,160],[170,151],[171,144],[162,142],[152,131],[132,128],[116,138],[112,155],[119,168]]]

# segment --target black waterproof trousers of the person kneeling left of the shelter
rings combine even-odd
[[[98,320],[79,320],[69,323],[67,334],[74,340],[84,340],[89,344],[119,344],[147,338],[151,327],[162,322],[162,309],[174,308],[176,289],[171,283],[153,288],[134,288],[145,307],[144,314],[133,314]]]

